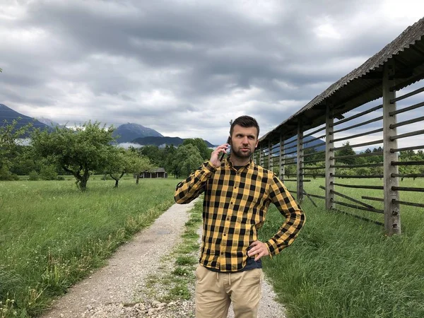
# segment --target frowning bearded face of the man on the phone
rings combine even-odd
[[[231,135],[231,152],[239,158],[249,158],[258,146],[258,131],[256,127],[235,125]]]

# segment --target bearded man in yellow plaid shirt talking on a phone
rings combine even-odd
[[[257,317],[261,298],[261,257],[288,247],[305,215],[273,172],[255,165],[259,125],[249,116],[231,124],[228,143],[218,146],[198,170],[177,184],[175,201],[187,204],[203,193],[203,235],[196,269],[196,317],[225,318],[230,302],[235,318]],[[223,162],[220,155],[231,147]],[[285,216],[276,235],[257,239],[269,204]]]

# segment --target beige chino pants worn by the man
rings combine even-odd
[[[217,273],[199,265],[196,269],[196,318],[227,318],[232,302],[235,318],[256,318],[263,273]]]

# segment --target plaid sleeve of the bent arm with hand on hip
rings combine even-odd
[[[293,196],[276,175],[272,177],[269,197],[278,208],[278,211],[285,217],[285,222],[278,229],[276,235],[266,242],[272,257],[272,255],[278,254],[293,243],[300,229],[305,224],[305,213],[303,213],[302,208],[296,203]]]

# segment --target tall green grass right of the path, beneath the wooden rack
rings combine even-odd
[[[348,182],[360,184],[358,180],[340,181]],[[378,182],[368,180],[367,184]],[[314,180],[307,192],[323,195],[318,188],[323,183],[322,179]],[[423,184],[423,180],[405,180],[402,185]],[[339,187],[337,191],[355,199],[362,195],[382,197],[377,190],[363,194]],[[401,193],[401,199],[423,201],[420,194],[406,192]],[[424,317],[423,209],[401,206],[403,234],[387,237],[379,225],[326,211],[323,200],[314,201],[318,208],[307,198],[302,204],[307,221],[293,246],[264,260],[264,270],[288,309],[288,317]],[[367,203],[382,208],[378,202]],[[339,208],[382,221],[376,213]],[[271,208],[261,240],[272,237],[281,222],[281,215]]]

